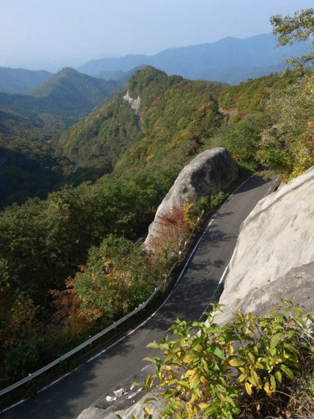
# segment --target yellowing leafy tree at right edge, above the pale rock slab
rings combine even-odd
[[[280,170],[286,180],[314,164],[313,89],[313,75],[306,74],[283,90],[274,89],[269,97],[275,122],[262,131],[256,158]]]

